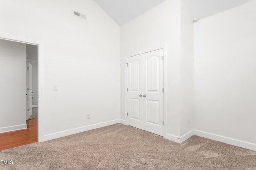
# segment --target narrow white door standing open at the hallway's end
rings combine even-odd
[[[28,63],[27,119],[32,115],[32,64]]]

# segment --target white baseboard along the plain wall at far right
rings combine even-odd
[[[224,136],[220,136],[220,135],[216,135],[216,134],[212,134],[212,133],[207,133],[207,132],[203,132],[203,131],[198,131],[198,130],[194,130],[194,135],[200,136],[200,137],[205,137],[205,138],[208,138],[208,139],[212,139],[214,141],[227,143],[227,144],[234,145],[234,146],[237,146],[237,147],[241,147],[241,148],[256,151],[256,144],[255,143],[241,141],[241,140],[238,140],[238,139],[233,139],[233,138],[230,138],[230,137],[224,137]]]

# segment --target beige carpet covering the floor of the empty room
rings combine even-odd
[[[256,170],[256,152],[193,136],[182,144],[120,123],[0,151],[0,170]],[[0,162],[1,163],[1,162]]]

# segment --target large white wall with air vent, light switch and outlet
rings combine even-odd
[[[96,2],[9,0],[1,7],[1,33],[44,43],[44,140],[119,119],[120,27]]]

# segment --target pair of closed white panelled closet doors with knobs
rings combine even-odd
[[[128,58],[128,125],[163,136],[163,49]]]

